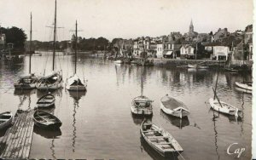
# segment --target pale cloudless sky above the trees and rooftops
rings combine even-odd
[[[55,0],[0,0],[0,25],[17,26],[32,39],[52,40]],[[253,24],[253,0],[57,0],[58,40],[70,39],[78,20],[79,36],[158,37],[189,31],[244,30]]]

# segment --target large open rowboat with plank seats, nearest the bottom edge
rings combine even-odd
[[[183,148],[172,134],[148,120],[143,121],[140,131],[148,145],[163,157],[172,157],[183,152]]]

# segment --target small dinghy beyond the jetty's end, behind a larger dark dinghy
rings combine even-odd
[[[49,108],[55,105],[55,96],[53,94],[43,95],[37,102],[38,108]]]

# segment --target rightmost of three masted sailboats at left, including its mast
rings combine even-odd
[[[70,91],[86,91],[87,84],[84,81],[80,80],[77,75],[77,54],[78,54],[78,23],[76,21],[76,39],[75,39],[75,67],[74,67],[74,75],[67,79],[66,89]]]

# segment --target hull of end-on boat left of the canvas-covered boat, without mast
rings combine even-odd
[[[152,102],[146,96],[138,96],[131,102],[131,112],[135,115],[152,115]]]

